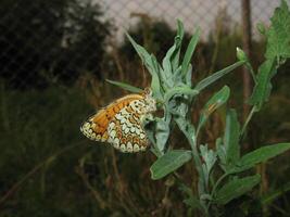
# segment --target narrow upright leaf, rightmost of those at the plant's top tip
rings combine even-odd
[[[200,28],[198,28],[196,30],[196,33],[192,35],[192,37],[189,41],[189,44],[187,47],[187,50],[186,50],[186,54],[185,54],[185,58],[184,58],[184,61],[181,64],[181,75],[184,75],[184,77],[186,77],[186,74],[188,72],[188,65],[189,65],[191,58],[192,58],[192,54],[196,50],[199,38],[200,38]]]

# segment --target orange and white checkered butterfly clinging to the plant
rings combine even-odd
[[[139,152],[149,146],[142,118],[156,111],[152,92],[128,94],[109,104],[86,120],[80,131],[89,139],[111,143],[121,152]]]

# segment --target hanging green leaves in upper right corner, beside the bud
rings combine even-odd
[[[281,1],[280,8],[275,10],[270,21],[269,29],[265,30],[267,39],[266,60],[259,67],[256,84],[249,101],[251,105],[254,105],[255,111],[259,111],[263,103],[268,100],[272,91],[272,78],[286,59],[290,58],[290,11],[285,0]]]

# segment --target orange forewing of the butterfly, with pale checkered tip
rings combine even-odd
[[[80,127],[80,131],[89,139],[105,142],[109,139],[108,126],[121,110],[126,107],[131,101],[141,100],[140,94],[128,94],[121,98],[97,114],[89,117]]]

